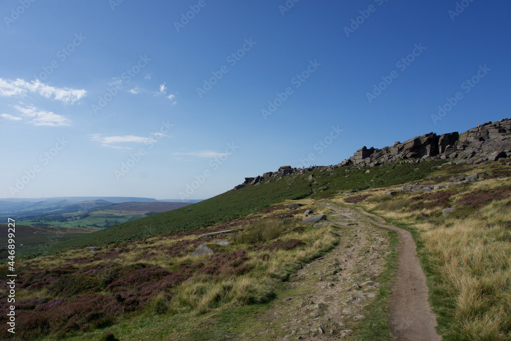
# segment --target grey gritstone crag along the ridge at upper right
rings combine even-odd
[[[321,171],[321,174],[317,176],[328,176],[332,174],[332,170],[344,166],[350,166],[345,170],[346,173],[350,173],[364,167],[378,167],[396,161],[412,163],[446,160],[447,163],[451,164],[465,162],[468,164],[484,164],[507,157],[511,157],[511,119],[502,119],[499,122],[480,124],[476,128],[463,133],[450,132],[437,135],[430,132],[403,143],[396,142],[391,147],[382,149],[364,146],[357,150],[352,157],[337,165],[301,169],[282,166],[276,172],[267,172],[257,177],[246,177],[243,185],[264,186],[264,184],[285,176],[306,175],[318,170]],[[366,173],[369,173],[368,169]],[[314,181],[315,177],[316,175],[309,174],[308,178],[310,181]],[[417,188],[410,190],[417,190]]]

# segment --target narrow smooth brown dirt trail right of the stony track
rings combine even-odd
[[[428,302],[426,276],[417,258],[410,232],[387,225],[382,218],[358,209],[362,214],[375,218],[378,221],[376,225],[399,234],[399,266],[390,298],[394,336],[398,340],[441,340],[442,337],[435,330],[436,316],[431,312]]]

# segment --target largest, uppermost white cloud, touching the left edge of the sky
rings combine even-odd
[[[71,89],[67,87],[54,87],[41,83],[39,80],[27,82],[24,79],[0,78],[0,96],[25,96],[27,93],[37,93],[45,98],[51,98],[65,104],[73,104],[87,93],[84,89]]]

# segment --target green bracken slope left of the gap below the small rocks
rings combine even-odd
[[[53,254],[68,247],[103,246],[159,234],[207,228],[218,222],[258,212],[282,200],[300,199],[310,194],[309,181],[302,177],[273,179],[269,184],[228,191],[177,210],[110,226],[108,229],[53,245],[47,252]],[[36,252],[34,256],[41,254]]]

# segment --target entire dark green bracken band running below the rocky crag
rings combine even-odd
[[[353,170],[353,167],[339,167],[322,175],[315,171],[313,180],[309,175],[288,175],[282,179],[271,179],[259,186],[246,186],[237,191],[228,191],[211,199],[177,209],[155,214],[147,218],[128,221],[110,226],[103,231],[80,236],[58,243],[50,253],[61,252],[68,247],[101,246],[111,243],[153,237],[160,234],[207,228],[215,223],[234,220],[258,212],[282,200],[296,200],[312,197],[329,197],[346,190],[363,190],[392,186],[423,179],[434,170],[433,166],[442,161],[400,164],[387,163],[379,167]],[[417,169],[418,170],[415,170]],[[346,169],[349,172],[346,172]],[[366,173],[369,169],[369,173]],[[327,189],[320,189],[327,187]],[[41,254],[35,253],[34,255]]]

